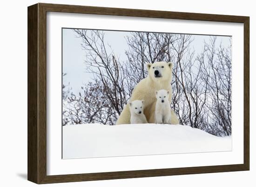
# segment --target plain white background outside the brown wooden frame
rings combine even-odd
[[[2,3],[0,12],[0,184],[1,186],[35,186],[27,179],[27,6],[37,3],[35,0],[7,1]],[[250,64],[251,64],[251,91],[250,91],[250,171],[230,172],[217,174],[194,174],[167,177],[151,177],[140,179],[124,179],[110,181],[89,181],[77,182],[77,186],[197,186],[197,187],[216,187],[216,186],[254,186],[256,174],[255,159],[255,116],[256,111],[253,107],[256,100],[252,98],[255,92],[253,83],[256,71],[256,13],[253,1],[189,1],[189,0],[157,0],[149,2],[129,0],[55,0],[41,1],[48,3],[77,4],[88,6],[109,6],[122,8],[139,8],[178,12],[196,13],[216,13],[250,16]],[[74,183],[51,184],[47,186],[74,186]]]

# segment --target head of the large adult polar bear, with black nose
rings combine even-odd
[[[148,63],[148,75],[153,80],[172,80],[172,62],[155,62],[154,64]]]

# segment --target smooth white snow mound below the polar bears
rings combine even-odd
[[[63,127],[63,159],[231,151],[232,138],[183,125],[81,124]]]

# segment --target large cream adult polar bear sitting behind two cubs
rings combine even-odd
[[[169,102],[172,99],[172,69],[173,63],[171,62],[155,62],[154,64],[147,64],[148,77],[142,79],[134,88],[130,102],[135,100],[144,100],[144,114],[148,123],[155,123],[155,91],[169,90]],[[178,124],[179,120],[171,110],[171,124]],[[116,124],[129,124],[130,123],[130,110],[126,105],[122,110]]]

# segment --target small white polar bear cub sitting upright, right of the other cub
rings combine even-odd
[[[171,105],[169,103],[167,90],[155,91],[155,123],[171,123]]]

